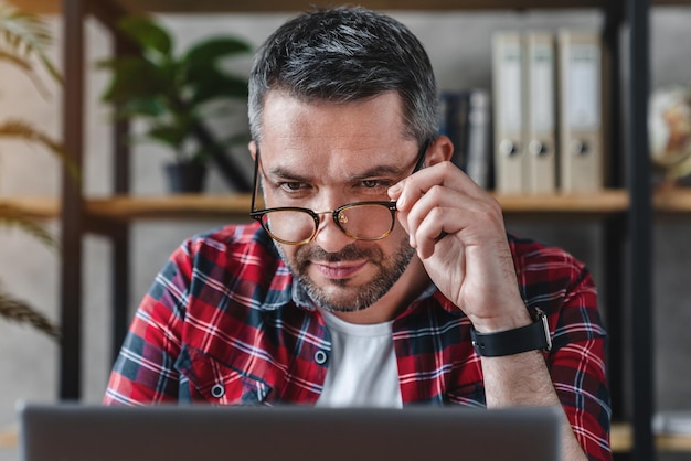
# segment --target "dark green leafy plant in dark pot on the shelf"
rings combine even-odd
[[[216,139],[204,120],[224,115],[214,111],[220,101],[246,100],[247,78],[232,74],[223,64],[249,53],[251,46],[224,35],[177,54],[172,34],[152,18],[126,17],[118,30],[137,51],[99,63],[111,72],[102,99],[115,105],[117,118],[142,120],[146,130],[141,139],[172,151],[173,161],[167,167],[171,189],[199,192],[213,159],[235,189],[249,190],[247,180],[225,156],[226,147],[248,141],[247,129]]]

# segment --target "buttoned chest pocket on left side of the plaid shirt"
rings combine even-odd
[[[179,360],[180,373],[189,380],[192,400],[212,405],[262,405],[272,387],[247,371],[192,347]]]

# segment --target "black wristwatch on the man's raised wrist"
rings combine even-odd
[[[548,317],[542,310],[535,309],[534,319],[535,322],[530,325],[498,333],[479,333],[471,326],[475,352],[483,357],[501,357],[535,350],[550,351],[552,337]]]

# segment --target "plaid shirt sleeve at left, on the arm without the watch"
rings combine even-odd
[[[174,363],[191,283],[191,246],[188,240],[171,255],[139,304],[113,366],[105,405],[178,399],[180,377]]]

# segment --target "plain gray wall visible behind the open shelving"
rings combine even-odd
[[[599,28],[602,18],[593,12],[556,13],[395,13],[426,44],[443,89],[489,87],[490,34],[500,29],[556,25]],[[164,17],[178,33],[180,45],[212,32],[234,32],[258,44],[286,15],[210,15]],[[652,22],[653,86],[688,83],[691,76],[691,10],[658,10]],[[61,23],[53,22],[62,34]],[[108,55],[108,35],[94,22],[88,23],[88,60],[91,63]],[[60,47],[55,57],[60,58]],[[247,62],[242,63],[244,68]],[[89,72],[87,79],[86,190],[92,195],[107,194],[109,178],[109,131],[107,111],[98,105],[105,75]],[[52,85],[49,84],[49,87]],[[34,86],[17,72],[0,66],[0,119],[11,116],[30,118],[59,135],[60,92],[36,97]],[[68,121],[67,121],[68,122]],[[215,127],[223,129],[223,127]],[[240,158],[247,157],[238,150]],[[162,194],[166,185],[160,165],[168,153],[157,147],[139,148],[134,156],[134,190],[137,194]],[[18,142],[0,142],[0,194],[57,195],[59,164],[45,152]],[[210,192],[224,193],[227,187],[213,173]],[[180,240],[190,234],[222,224],[221,222],[139,222],[132,227],[131,247],[132,299],[135,309],[153,276]],[[55,223],[51,226],[57,229]],[[510,221],[509,226],[521,234],[536,236],[564,246],[592,268],[596,281],[602,279],[603,250],[597,222],[536,223]],[[656,405],[659,409],[691,409],[691,345],[687,325],[691,320],[691,245],[685,242],[691,226],[689,218],[661,219],[655,227],[655,331],[656,331]],[[42,307],[57,317],[57,257],[15,229],[0,227],[0,281],[12,293]],[[85,376],[87,401],[103,395],[109,358],[108,307],[109,246],[98,237],[85,239]],[[624,267],[623,267],[624,269]],[[606,287],[600,287],[604,290]],[[606,307],[603,307],[605,309]],[[685,321],[684,321],[685,320]],[[52,400],[56,393],[57,350],[54,344],[30,329],[0,321],[0,428],[13,421],[18,399]],[[0,450],[12,459],[13,453]],[[677,459],[677,458],[674,458]]]

